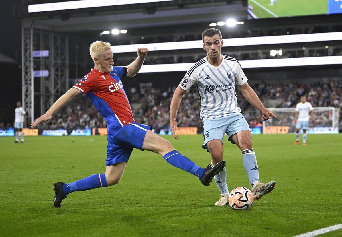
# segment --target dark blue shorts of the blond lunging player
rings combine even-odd
[[[133,148],[143,151],[145,135],[151,127],[145,124],[131,122],[114,134],[108,134],[106,166],[119,162],[128,162]]]

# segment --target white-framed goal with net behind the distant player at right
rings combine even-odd
[[[294,109],[295,108],[268,108],[278,119],[271,117],[263,121],[262,129],[264,134],[286,134],[295,132]],[[307,134],[339,133],[339,108],[314,107],[315,122],[309,121]],[[300,133],[302,133],[302,129]]]

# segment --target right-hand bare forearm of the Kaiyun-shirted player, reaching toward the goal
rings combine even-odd
[[[271,116],[278,119],[278,117],[274,113],[264,107],[258,95],[255,94],[254,90],[248,85],[247,82],[238,86],[242,95],[248,100],[248,102],[253,104],[262,113],[262,119],[264,121],[271,119]]]

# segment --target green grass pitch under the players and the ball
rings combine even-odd
[[[202,135],[174,148],[206,167]],[[341,223],[342,134],[253,135],[260,178],[276,189],[247,211],[215,207],[219,191],[149,151],[133,150],[117,185],[68,195],[52,207],[52,183],[105,170],[106,137],[1,137],[0,233],[5,236],[284,236]],[[228,189],[248,185],[241,152],[225,137]],[[341,236],[342,230],[321,236]]]

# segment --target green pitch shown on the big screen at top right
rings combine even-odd
[[[269,6],[270,3],[270,0],[248,0],[252,12],[259,18],[328,14],[327,0],[277,0]]]

